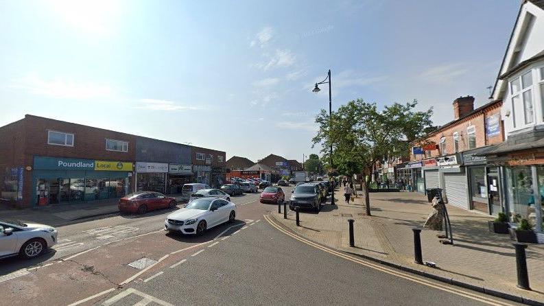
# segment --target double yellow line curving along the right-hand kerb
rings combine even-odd
[[[393,270],[393,269],[390,269],[390,268],[386,268],[385,266],[381,266],[381,265],[379,265],[377,263],[372,263],[370,261],[364,261],[364,260],[359,259],[357,257],[352,257],[352,256],[349,256],[349,255],[346,255],[346,254],[344,254],[342,252],[338,252],[338,251],[333,250],[331,248],[326,248],[324,246],[320,246],[319,244],[311,242],[308,239],[305,239],[303,237],[295,235],[294,233],[290,233],[289,231],[286,231],[276,221],[272,220],[272,217],[270,217],[269,215],[264,215],[264,218],[270,225],[274,226],[274,228],[276,228],[278,231],[281,231],[282,233],[284,233],[285,235],[288,235],[289,237],[293,237],[294,239],[297,239],[298,241],[303,242],[303,243],[305,243],[305,244],[307,244],[309,246],[313,246],[314,248],[318,248],[320,250],[323,250],[324,252],[328,252],[328,253],[330,253],[332,255],[342,257],[343,259],[346,259],[348,261],[353,261],[355,263],[359,263],[362,266],[366,266],[366,267],[372,268],[374,270],[379,270],[381,272],[391,274],[393,276],[397,276],[397,277],[400,277],[402,279],[407,279],[408,281],[413,281],[414,283],[419,283],[421,285],[426,285],[426,286],[429,286],[429,287],[433,287],[433,288],[436,288],[438,290],[442,290],[442,291],[445,291],[445,292],[450,292],[450,293],[453,293],[453,294],[458,294],[458,295],[464,296],[466,298],[471,298],[471,299],[473,299],[475,301],[480,301],[480,302],[486,303],[488,305],[501,305],[501,306],[512,305],[512,304],[509,304],[509,303],[504,303],[502,301],[497,301],[497,300],[495,300],[493,298],[489,298],[488,296],[483,296],[481,294],[475,294],[473,292],[469,292],[469,291],[466,291],[466,290],[461,290],[461,289],[458,289],[456,287],[449,287],[449,286],[446,286],[446,285],[442,285],[440,283],[434,283],[434,282],[431,282],[431,281],[429,281],[427,279],[416,277],[416,276],[414,276],[412,274],[408,274],[408,273],[405,273],[405,272],[400,272],[398,270]]]

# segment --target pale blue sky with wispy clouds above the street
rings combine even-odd
[[[302,160],[315,116],[488,102],[515,0],[0,1],[0,126],[25,114],[253,161]]]

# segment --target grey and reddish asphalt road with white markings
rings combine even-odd
[[[269,219],[277,207],[257,194],[233,200],[237,222],[202,237],[165,235],[169,211],[59,228],[83,244],[39,268],[7,268],[14,277],[0,279],[0,305],[512,305],[307,242]],[[91,231],[105,226],[131,231]]]

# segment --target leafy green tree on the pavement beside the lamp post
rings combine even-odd
[[[340,106],[329,118],[326,110],[316,116],[319,130],[312,139],[322,145],[323,158],[333,145],[333,166],[340,174],[370,177],[372,165],[389,157],[405,156],[410,143],[431,127],[432,108],[416,111],[417,101],[394,103],[378,110],[375,103],[357,99]],[[368,180],[364,180],[366,214],[370,215]]]

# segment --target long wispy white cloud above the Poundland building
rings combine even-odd
[[[89,99],[95,97],[110,97],[114,95],[110,86],[92,82],[74,82],[71,80],[44,80],[37,73],[12,80],[12,89],[21,89],[32,95],[57,97],[65,99]]]

